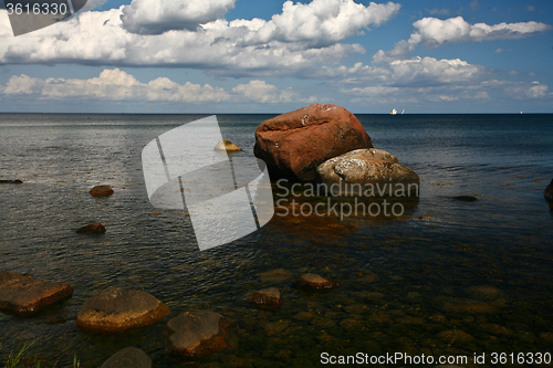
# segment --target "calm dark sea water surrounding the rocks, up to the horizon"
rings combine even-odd
[[[140,153],[204,116],[0,114],[0,179],[24,181],[0,186],[0,270],[74,287],[34,317],[0,313],[0,366],[34,341],[28,356],[41,367],[71,366],[75,355],[81,367],[98,367],[126,346],[156,367],[188,367],[166,353],[163,332],[198,309],[232,322],[230,348],[196,361],[210,367],[311,367],[324,351],[551,353],[553,212],[543,190],[553,177],[553,115],[357,115],[375,147],[421,179],[404,215],[275,215],[200,252],[184,211],[148,202]],[[240,155],[253,156],[255,127],[272,115],[217,117]],[[100,183],[115,194],[91,197]],[[478,201],[451,198],[460,194]],[[96,221],[105,234],[75,233]],[[279,269],[290,276],[263,274]],[[294,281],[306,272],[341,286],[305,293]],[[80,330],[82,304],[107,286],[144,290],[171,312],[116,336]],[[282,308],[252,308],[249,295],[270,286]],[[288,327],[273,334],[278,322]]]

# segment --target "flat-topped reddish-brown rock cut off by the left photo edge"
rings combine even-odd
[[[65,283],[40,281],[17,272],[0,271],[0,311],[28,316],[72,294],[73,287]]]

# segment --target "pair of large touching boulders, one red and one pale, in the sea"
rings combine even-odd
[[[375,149],[355,115],[336,105],[314,104],[264,120],[255,130],[254,155],[265,161],[273,180],[316,180],[332,186],[334,196],[419,196],[417,174]],[[365,190],[377,186],[386,188]]]

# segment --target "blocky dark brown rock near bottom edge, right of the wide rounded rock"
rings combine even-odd
[[[175,355],[204,357],[228,346],[222,316],[215,312],[185,312],[169,320],[167,328],[169,353]]]

